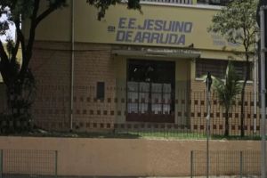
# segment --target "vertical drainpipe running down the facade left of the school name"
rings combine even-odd
[[[74,87],[74,0],[71,1],[71,72],[70,72],[70,132],[73,130],[73,87]]]

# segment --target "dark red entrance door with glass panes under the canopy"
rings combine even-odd
[[[173,61],[128,61],[127,121],[174,122],[174,66]]]

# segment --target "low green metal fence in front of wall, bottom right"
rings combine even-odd
[[[258,150],[211,150],[208,159],[206,157],[204,150],[191,151],[190,177],[261,177],[261,152]]]

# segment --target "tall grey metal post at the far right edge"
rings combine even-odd
[[[264,28],[264,6],[260,8],[260,17],[261,17],[261,134],[262,134],[262,156],[261,156],[261,174],[262,178],[266,178],[266,143],[265,143],[265,134],[266,134],[266,106],[265,106],[265,28]]]

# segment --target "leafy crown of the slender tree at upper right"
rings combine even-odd
[[[255,44],[257,0],[234,0],[214,15],[208,31],[223,35],[233,44],[249,49]]]

